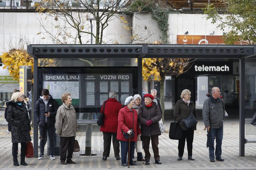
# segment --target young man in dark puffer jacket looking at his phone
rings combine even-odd
[[[54,151],[54,125],[55,117],[58,110],[57,102],[52,98],[48,89],[43,89],[42,95],[36,101],[35,119],[39,126],[40,133],[40,156],[38,160],[44,159],[45,135],[48,132],[50,141],[50,160],[55,160]]]

